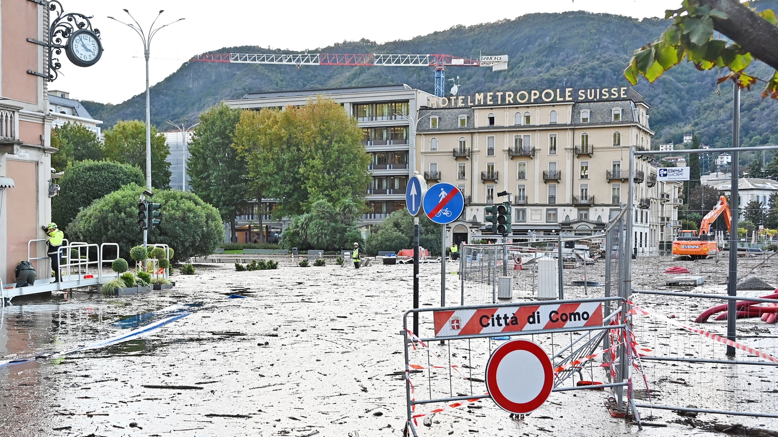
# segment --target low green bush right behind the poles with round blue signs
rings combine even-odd
[[[440,255],[440,225],[423,216],[419,218],[419,246],[432,255]],[[378,253],[379,250],[397,252],[412,247],[413,217],[405,210],[392,212],[384,222],[373,226],[365,242],[367,253]]]

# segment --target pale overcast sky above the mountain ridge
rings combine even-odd
[[[586,10],[636,18],[664,16],[681,0],[492,0],[492,2],[430,2],[419,0],[61,0],[65,12],[92,15],[100,29],[103,57],[79,68],[61,55],[59,78],[49,89],[61,89],[79,100],[121,103],[145,90],[145,62],[140,37],[107,16],[130,17],[148,29],[159,9],[157,25],[174,23],[152,39],[151,84],[165,79],[195,54],[222,47],[256,45],[291,50],[325,47],[343,40],[385,43],[407,40],[451,26],[514,19],[533,12]],[[433,47],[430,47],[433,50]],[[458,53],[450,53],[461,55]],[[495,53],[501,54],[501,53]]]

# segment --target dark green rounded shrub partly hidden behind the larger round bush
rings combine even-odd
[[[138,167],[110,161],[76,162],[59,180],[59,194],[51,199],[51,220],[66,229],[83,208],[127,184],[145,185]]]

